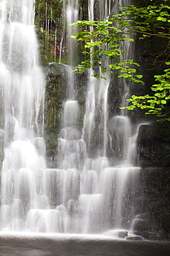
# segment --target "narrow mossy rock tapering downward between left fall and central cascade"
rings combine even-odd
[[[66,81],[61,69],[48,67],[45,93],[45,141],[47,158],[54,158],[58,134],[63,120],[63,100],[66,97]]]

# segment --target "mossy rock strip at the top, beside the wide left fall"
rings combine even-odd
[[[54,61],[55,34],[57,33],[57,39],[60,41],[59,32],[63,26],[61,10],[62,3],[59,0],[35,1],[35,25],[43,66]]]

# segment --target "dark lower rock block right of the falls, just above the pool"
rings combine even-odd
[[[169,232],[169,175],[168,167],[149,167],[141,169],[140,188],[142,197],[135,201],[136,211],[145,212],[145,215],[137,215],[134,219],[145,219],[135,223],[135,231]]]

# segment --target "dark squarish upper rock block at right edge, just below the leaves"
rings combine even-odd
[[[140,126],[138,157],[141,167],[170,166],[169,122],[153,122],[149,125]]]

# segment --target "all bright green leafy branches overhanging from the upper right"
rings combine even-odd
[[[125,50],[121,44],[129,40],[134,41],[134,34],[147,44],[162,42],[162,51],[154,56],[152,69],[158,69],[155,75],[156,84],[151,86],[151,95],[132,95],[128,100],[131,105],[124,107],[145,109],[146,114],[153,114],[159,120],[170,120],[170,6],[169,1],[145,1],[143,7],[128,6],[121,8],[120,14],[112,16],[109,21],[77,21],[72,26],[79,26],[79,32],[72,38],[84,43],[86,60],[74,71],[81,73],[86,68],[94,69],[94,77],[105,78],[97,73],[100,66],[101,73],[119,71],[118,77],[125,77],[129,81],[139,82],[142,75],[136,75],[138,63],[125,60]],[[104,66],[103,56],[111,60],[109,66]],[[134,67],[137,68],[134,68]]]

